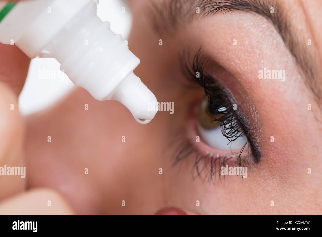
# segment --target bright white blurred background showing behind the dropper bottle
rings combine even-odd
[[[122,10],[123,12],[125,10],[125,13],[122,13]],[[97,16],[102,21],[109,21],[111,30],[121,34],[123,40],[128,38],[132,20],[125,1],[99,0]],[[60,63],[53,58],[35,58],[31,61],[24,89],[19,96],[19,109],[22,115],[46,108],[75,87],[67,75],[64,75],[63,80],[38,79],[38,70],[59,70],[59,68]]]

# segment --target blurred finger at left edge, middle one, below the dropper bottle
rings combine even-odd
[[[24,120],[18,110],[18,98],[0,82],[0,200],[25,188],[26,178],[20,173],[25,166],[23,138]]]

